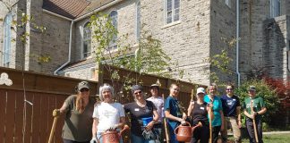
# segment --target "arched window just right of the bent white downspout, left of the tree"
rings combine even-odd
[[[88,58],[91,56],[91,28],[90,27],[87,27],[87,25],[90,23],[90,21],[86,21],[83,26],[82,26],[82,38],[81,38],[81,59],[84,59],[84,58]],[[86,37],[86,29],[90,29],[90,38]],[[88,42],[88,47],[87,47],[87,52],[85,53],[85,43]]]

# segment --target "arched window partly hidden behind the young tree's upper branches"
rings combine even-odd
[[[112,11],[109,14],[109,17],[111,18],[113,26],[117,30],[118,29],[118,13],[116,11]],[[114,35],[112,40],[109,43],[109,50],[115,50],[117,48],[116,40],[117,40],[117,35]]]

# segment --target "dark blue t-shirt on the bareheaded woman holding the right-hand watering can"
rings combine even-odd
[[[178,100],[175,97],[167,97],[166,103],[164,105],[164,111],[168,110],[170,114],[174,115],[175,117],[182,118],[183,114],[181,113],[179,106],[178,106]],[[168,124],[171,127],[171,129],[175,129],[179,122],[168,119]]]

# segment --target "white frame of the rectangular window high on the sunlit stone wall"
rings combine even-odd
[[[170,21],[168,21],[168,1],[171,1],[171,11],[170,11]],[[178,1],[178,7],[175,8],[175,1]],[[178,13],[176,14],[176,11],[178,11]],[[165,1],[165,24],[171,24],[171,23],[175,23],[177,21],[180,21],[180,12],[181,12],[181,0],[166,0]],[[178,20],[175,20],[175,16],[178,15]]]

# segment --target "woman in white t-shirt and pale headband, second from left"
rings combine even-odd
[[[114,100],[114,88],[105,83],[99,87],[99,99],[100,104],[97,104],[94,108],[92,115],[94,121],[92,124],[92,139],[90,143],[103,142],[102,133],[107,130],[120,130],[124,127],[125,114],[123,105],[115,103]],[[123,140],[120,139],[120,143]]]

